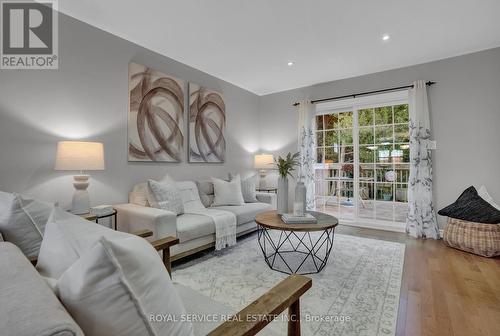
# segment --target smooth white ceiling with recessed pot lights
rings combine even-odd
[[[64,0],[59,9],[259,95],[500,46],[498,0]]]

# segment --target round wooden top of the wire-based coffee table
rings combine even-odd
[[[339,220],[331,215],[322,212],[308,211],[318,220],[315,224],[286,224],[281,220],[281,217],[275,210],[266,211],[255,216],[255,222],[260,226],[268,229],[283,230],[283,231],[321,231],[334,228],[339,224]]]

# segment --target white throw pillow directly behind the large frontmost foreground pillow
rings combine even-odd
[[[55,207],[45,227],[36,268],[43,276],[59,279],[101,237],[127,236]]]

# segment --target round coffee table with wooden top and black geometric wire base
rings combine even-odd
[[[255,217],[259,245],[271,269],[286,274],[313,274],[326,266],[338,219],[321,212],[308,213],[318,222],[286,224],[276,211]]]

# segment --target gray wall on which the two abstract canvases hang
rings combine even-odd
[[[66,15],[59,22],[59,70],[0,70],[0,190],[68,207],[72,172],[53,169],[56,143],[66,139],[104,143],[106,170],[90,172],[92,204],[125,202],[136,182],[166,173],[226,177],[251,168],[259,147],[257,95]],[[226,163],[187,163],[187,115],[182,163],[127,162],[131,61],[223,94]]]

